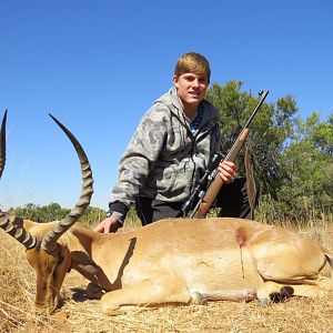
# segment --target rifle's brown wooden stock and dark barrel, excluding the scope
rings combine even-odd
[[[232,148],[230,149],[228,155],[225,157],[225,159],[223,161],[230,161],[230,162],[234,162],[240,150],[242,149],[242,147],[244,145],[249,133],[250,133],[250,124],[256,113],[256,111],[259,110],[259,108],[262,105],[264,99],[266,98],[266,95],[269,94],[269,91],[261,91],[260,95],[261,95],[261,100],[259,101],[258,105],[255,107],[254,111],[252,112],[250,119],[248,120],[245,127],[243,128],[242,132],[240,133],[239,138],[236,139],[236,141],[234,142],[234,144],[232,145]],[[212,174],[210,175],[210,183],[208,185],[208,189],[205,191],[205,193],[201,193],[201,195],[199,195],[201,199],[198,201],[194,210],[192,211],[190,218],[198,218],[198,219],[204,219],[209,209],[211,208],[211,205],[213,204],[215,198],[218,196],[221,188],[223,186],[223,180],[221,176],[218,175],[219,171],[218,169],[215,169]]]

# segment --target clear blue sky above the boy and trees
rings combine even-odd
[[[2,208],[72,206],[81,175],[62,121],[93,168],[92,205],[107,209],[117,164],[141,117],[196,51],[212,82],[291,93],[299,115],[333,102],[331,0],[0,0],[0,112],[8,114]]]

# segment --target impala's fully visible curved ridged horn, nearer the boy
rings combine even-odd
[[[79,202],[75,204],[75,206],[70,211],[69,214],[65,215],[64,219],[58,222],[58,224],[54,225],[53,229],[51,229],[43,238],[41,242],[41,248],[47,252],[52,252],[57,248],[57,241],[58,239],[65,233],[84,213],[87,206],[90,203],[90,199],[93,193],[92,184],[92,171],[88,161],[88,158],[85,155],[85,152],[83,151],[83,148],[79,143],[79,141],[74,138],[74,135],[60,122],[58,121],[52,114],[49,114],[56,123],[62,129],[62,131],[67,134],[67,137],[72,142],[77,154],[80,160],[81,164],[81,172],[82,172],[82,190],[81,190],[81,196],[79,199]]]

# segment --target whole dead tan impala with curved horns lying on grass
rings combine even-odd
[[[54,119],[54,118],[53,118]],[[75,138],[82,194],[61,221],[36,223],[1,212],[0,226],[26,246],[37,275],[37,310],[52,312],[70,269],[99,285],[102,310],[133,305],[202,303],[273,296],[319,297],[333,291],[321,275],[332,255],[317,243],[282,228],[240,219],[167,219],[128,233],[100,234],[75,223],[92,195],[92,173]],[[6,162],[6,115],[1,127],[0,175]]]

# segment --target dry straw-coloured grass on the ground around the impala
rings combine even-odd
[[[325,230],[300,229],[333,249]],[[210,302],[208,305],[138,310],[118,316],[101,314],[99,301],[80,299],[88,281],[68,274],[64,304],[52,316],[33,312],[34,273],[22,245],[0,230],[0,332],[332,332],[333,300],[291,299],[269,307],[256,302]]]

